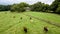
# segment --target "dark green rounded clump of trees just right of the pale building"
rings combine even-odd
[[[45,12],[47,11],[49,8],[49,5],[48,4],[44,4],[44,3],[41,3],[41,2],[37,2],[33,5],[31,5],[31,10],[32,11],[37,11],[37,12]]]

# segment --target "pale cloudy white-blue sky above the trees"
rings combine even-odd
[[[34,4],[36,2],[42,2],[45,4],[51,4],[54,0],[0,0],[0,4],[8,5],[20,2],[26,2],[28,4]]]

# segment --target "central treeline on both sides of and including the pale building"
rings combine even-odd
[[[21,2],[19,4],[13,4],[11,7],[12,12],[24,12],[26,10],[30,11],[36,11],[36,12],[48,12],[49,11],[49,5],[44,4],[41,2],[37,2],[33,5],[29,5],[27,3]]]

